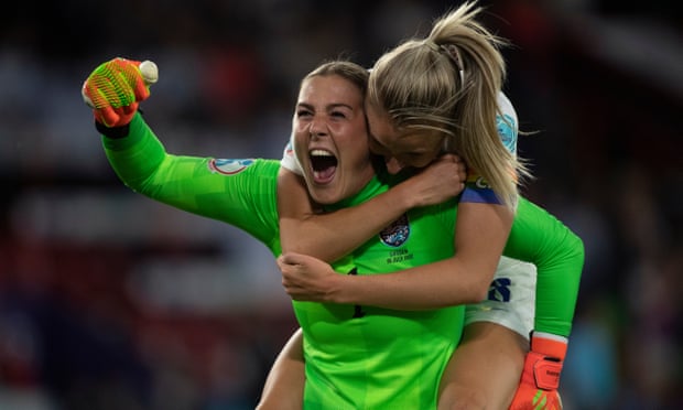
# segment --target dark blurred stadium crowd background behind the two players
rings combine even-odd
[[[523,192],[586,246],[565,407],[682,408],[683,18],[673,1],[480,3],[513,44]],[[93,68],[156,62],[143,110],[170,152],[280,158],[303,75],[371,66],[454,4],[6,4],[0,409],[251,409],[296,327],[260,244],[117,180],[80,98]]]

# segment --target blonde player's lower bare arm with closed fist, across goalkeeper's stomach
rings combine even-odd
[[[315,258],[278,259],[283,284],[295,300],[400,310],[475,303],[486,296],[512,225],[512,212],[494,204],[460,204],[455,256],[391,274],[337,274]]]

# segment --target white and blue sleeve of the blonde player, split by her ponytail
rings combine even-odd
[[[513,154],[517,154],[517,138],[519,133],[519,125],[517,122],[517,111],[510,102],[510,99],[502,93],[498,94],[498,107],[500,115],[496,117],[496,127],[498,136],[503,145]],[[488,185],[486,180],[476,171],[467,175],[465,190],[460,202],[474,202],[484,204],[501,204],[500,199]]]

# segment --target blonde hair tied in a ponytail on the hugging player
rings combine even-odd
[[[444,138],[499,199],[517,206],[518,182],[531,177],[523,160],[502,143],[496,116],[506,76],[499,47],[507,42],[475,20],[481,8],[465,2],[437,19],[426,39],[412,39],[378,60],[368,100],[393,125]],[[434,132],[436,131],[436,132]]]

